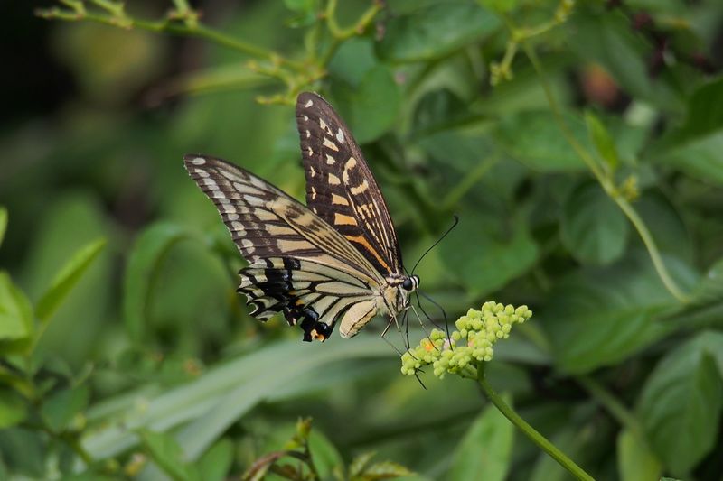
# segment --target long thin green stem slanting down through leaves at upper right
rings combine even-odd
[[[512,25],[510,20],[505,20],[507,20],[511,31],[516,32],[517,30]],[[577,155],[579,155],[583,162],[587,164],[587,167],[590,169],[590,171],[593,172],[593,175],[595,175],[596,180],[603,187],[603,190],[605,190],[607,195],[615,201],[615,204],[617,204],[618,208],[623,211],[624,215],[628,218],[630,223],[633,224],[633,227],[638,232],[638,236],[640,236],[640,238],[643,240],[643,244],[645,245],[648,254],[650,254],[651,261],[653,262],[653,266],[655,268],[655,272],[658,273],[658,276],[661,278],[661,281],[665,285],[665,288],[670,291],[673,297],[675,297],[678,301],[681,301],[683,303],[688,302],[688,296],[681,290],[680,287],[678,287],[678,284],[673,281],[671,274],[668,272],[668,269],[662,262],[662,257],[660,252],[658,251],[658,247],[657,245],[655,245],[653,236],[651,235],[650,230],[648,230],[648,227],[643,222],[643,219],[638,215],[637,211],[635,211],[635,209],[633,208],[633,206],[630,205],[627,199],[624,199],[624,196],[620,195],[617,188],[615,188],[613,180],[609,176],[607,176],[602,169],[600,169],[600,166],[595,161],[595,158],[590,153],[588,153],[587,150],[582,145],[580,145],[580,143],[577,142],[575,136],[570,132],[568,125],[565,123],[565,120],[562,117],[562,113],[559,109],[557,101],[555,100],[555,96],[552,94],[552,89],[549,87],[549,82],[547,77],[545,76],[544,70],[542,69],[540,60],[538,59],[535,51],[532,49],[530,43],[526,42],[526,39],[524,38],[521,39],[520,43],[522,49],[525,51],[528,58],[530,59],[532,67],[534,67],[535,71],[537,71],[538,73],[538,76],[540,78],[540,85],[545,91],[545,96],[548,98],[550,110],[552,110],[552,113],[555,116],[555,120],[558,123],[559,129],[562,132],[563,136],[568,141],[570,146],[575,150]]]

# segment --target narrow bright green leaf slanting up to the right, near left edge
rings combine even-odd
[[[73,286],[80,281],[80,277],[100,254],[103,247],[106,246],[106,243],[106,239],[98,239],[85,245],[63,265],[61,271],[52,280],[51,286],[38,301],[35,312],[41,322],[47,322],[51,319]]]

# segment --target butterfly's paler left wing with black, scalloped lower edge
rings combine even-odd
[[[266,320],[283,312],[304,340],[324,340],[341,319],[351,337],[377,312],[383,282],[341,234],[267,181],[207,155],[183,157],[193,180],[213,200],[249,266],[239,292]]]

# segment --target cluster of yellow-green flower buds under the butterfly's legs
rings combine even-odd
[[[447,338],[446,332],[434,329],[418,347],[401,356],[403,375],[415,375],[424,365],[432,365],[440,379],[446,373],[457,373],[466,365],[491,361],[494,343],[510,336],[512,324],[532,316],[527,306],[516,308],[494,301],[485,302],[482,310],[470,309],[455,322],[456,330]]]

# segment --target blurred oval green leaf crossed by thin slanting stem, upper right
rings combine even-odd
[[[591,146],[587,129],[577,116],[565,116],[578,143]],[[584,171],[585,163],[570,146],[549,110],[520,112],[504,116],[497,125],[497,138],[513,159],[533,171]]]

